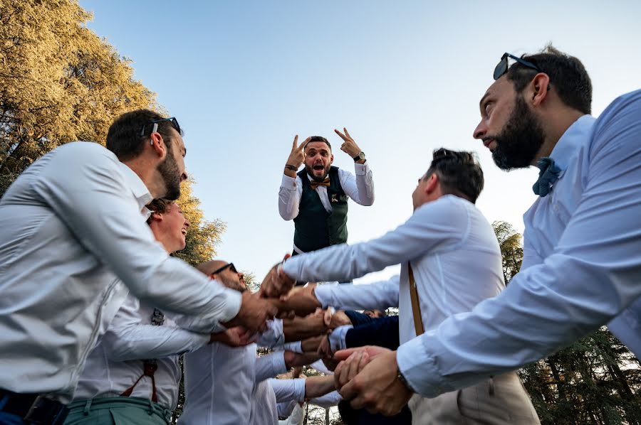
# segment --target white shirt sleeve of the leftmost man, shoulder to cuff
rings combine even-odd
[[[56,167],[44,167],[33,190],[85,249],[105,263],[141,300],[163,310],[199,316],[193,330],[219,330],[239,311],[241,296],[169,257],[144,220],[130,187],[102,146],[59,148]]]

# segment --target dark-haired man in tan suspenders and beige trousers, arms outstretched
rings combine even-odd
[[[316,301],[323,300],[323,306],[331,300],[337,308],[398,306],[402,348],[417,340],[417,335],[467,314],[504,289],[499,243],[475,205],[483,185],[483,171],[474,154],[437,149],[427,172],[418,179],[412,193],[414,212],[405,223],[375,240],[291,257],[283,263],[280,279],[290,284],[294,280],[350,280],[400,264],[400,275],[390,281],[318,286],[313,294]],[[372,294],[367,294],[370,291]],[[301,301],[296,298],[305,301],[308,294],[300,291],[300,295],[281,301],[283,307],[295,307]],[[413,352],[400,357],[400,348],[398,356],[397,351],[380,347],[352,349],[355,353],[350,362],[335,370],[337,387],[349,382],[339,389],[343,399],[351,400],[354,409],[372,407],[358,397],[353,399],[357,394],[349,385],[353,385],[350,379],[367,363],[370,353],[376,354],[382,359],[377,363],[377,373],[386,387],[372,402],[377,403],[375,410],[387,416],[397,414],[416,392],[410,381],[415,377],[414,370],[405,365],[413,365],[420,355],[412,347]],[[390,408],[389,401],[399,398],[402,404]],[[442,391],[434,399],[417,394],[409,407],[414,424],[475,424],[479,423],[477,419],[484,424],[540,423],[521,381],[511,370],[487,375],[460,392]]]

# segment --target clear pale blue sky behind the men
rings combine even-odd
[[[593,114],[641,87],[641,2],[98,1],[88,26],[132,60],[135,77],[185,129],[187,168],[207,218],[228,227],[219,257],[259,279],[291,252],[278,215],[295,134],[334,142],[347,127],[374,173],[372,207],[350,203],[349,242],[412,213],[411,193],[441,146],[479,154],[488,220],[522,230],[533,169],[504,173],[471,133],[504,52],[552,42],[590,72]],[[393,274],[394,267],[362,281]]]

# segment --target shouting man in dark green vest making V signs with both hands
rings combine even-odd
[[[278,191],[278,212],[283,220],[294,220],[293,255],[347,242],[348,197],[360,205],[374,203],[365,154],[347,129],[334,131],[343,139],[340,150],[354,159],[355,175],[332,166],[332,146],[325,137],[308,137],[300,146],[298,136],[293,140]]]

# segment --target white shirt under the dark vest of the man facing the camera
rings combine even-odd
[[[354,176],[349,171],[338,168],[338,180],[340,187],[343,188],[345,195],[348,195],[355,203],[369,206],[374,203],[374,180],[372,171],[368,162],[364,164],[354,163]],[[309,175],[308,178],[311,179]],[[327,195],[325,186],[316,188],[320,203],[325,207],[325,211],[332,212],[332,205]],[[283,174],[281,188],[278,190],[278,213],[283,220],[293,220],[298,215],[298,205],[301,203],[303,194],[303,182],[299,176],[296,178]]]

